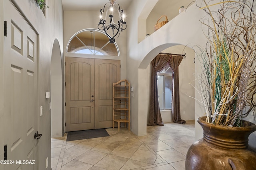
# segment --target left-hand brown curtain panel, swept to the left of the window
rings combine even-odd
[[[160,113],[160,107],[158,103],[158,89],[157,89],[157,75],[156,73],[163,70],[168,61],[170,55],[157,55],[151,62],[151,88],[150,88],[150,108],[148,125],[164,125]]]

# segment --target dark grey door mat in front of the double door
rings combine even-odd
[[[109,135],[105,129],[73,131],[73,132],[68,132],[66,141],[76,141],[76,140],[82,140],[82,139],[92,139],[96,137],[107,137],[107,136]]]

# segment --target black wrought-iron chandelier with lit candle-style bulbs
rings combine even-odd
[[[104,5],[103,9],[100,9],[98,29],[104,30],[109,37],[109,42],[114,43],[115,38],[119,37],[120,33],[126,29],[126,21],[124,21],[123,10],[120,9],[116,0],[109,1]]]

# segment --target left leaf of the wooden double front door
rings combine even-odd
[[[94,129],[94,59],[66,57],[66,131]]]

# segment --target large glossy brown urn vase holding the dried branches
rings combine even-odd
[[[205,116],[197,120],[204,137],[188,149],[186,170],[256,170],[256,152],[248,149],[255,124],[243,121],[243,127],[229,127],[205,120]]]

